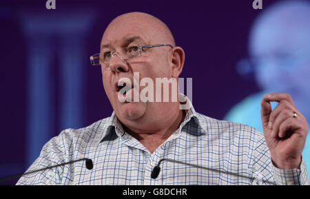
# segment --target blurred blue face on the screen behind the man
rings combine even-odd
[[[309,16],[310,13],[298,13],[298,8],[277,14],[269,12],[254,27],[250,53],[256,81],[262,89],[310,94]]]

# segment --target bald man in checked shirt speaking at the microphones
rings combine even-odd
[[[81,162],[61,165],[24,175],[17,185],[309,184],[301,156],[308,125],[288,94],[263,98],[265,138],[247,125],[198,114],[183,94],[176,101],[132,100],[147,87],[132,82],[178,78],[183,69],[185,52],[156,17],[141,12],[116,17],[91,61],[101,65],[112,116],[65,129],[43,147],[28,171],[80,158],[92,159],[93,168]],[[155,98],[167,92],[153,90]],[[283,105],[271,111],[270,101]],[[151,175],[158,163],[161,169]]]

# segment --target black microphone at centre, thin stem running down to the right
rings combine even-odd
[[[159,167],[159,165],[161,165],[161,162],[163,162],[163,161],[168,161],[168,162],[171,162],[171,163],[178,163],[178,164],[181,164],[181,165],[187,165],[187,166],[196,167],[196,168],[199,168],[199,169],[207,169],[209,171],[214,171],[214,172],[223,173],[223,174],[229,174],[231,176],[238,176],[238,177],[242,177],[242,178],[247,178],[249,180],[259,180],[261,182],[267,182],[267,183],[269,183],[271,185],[276,185],[274,182],[271,182],[271,181],[268,181],[268,180],[261,180],[259,178],[255,178],[255,177],[244,176],[244,175],[240,175],[240,174],[236,174],[236,173],[231,173],[231,172],[227,172],[227,171],[220,171],[218,169],[212,169],[212,168],[209,168],[209,167],[203,167],[203,166],[199,166],[199,165],[193,165],[193,164],[189,164],[189,163],[184,163],[184,162],[181,162],[181,161],[178,161],[178,160],[172,160],[172,159],[169,159],[169,158],[162,158],[161,160],[159,160],[158,164],[153,168],[153,171],[151,173],[151,178],[156,179],[158,177],[159,173],[161,172],[161,167]]]

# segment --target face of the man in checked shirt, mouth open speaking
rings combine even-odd
[[[166,43],[167,40],[161,36],[161,32],[154,25],[154,21],[140,16],[118,17],[105,30],[101,41],[101,54],[108,51],[116,51],[109,64],[101,63],[103,86],[107,97],[112,104],[116,116],[124,121],[134,121],[145,116],[145,114],[156,114],[162,107],[158,103],[143,103],[134,101],[134,92],[138,93],[143,87],[133,87],[141,78],[152,78],[155,85],[157,77],[172,77],[172,67],[169,64],[169,47],[147,48],[142,51],[141,56],[123,61],[125,57],[123,48],[132,45],[155,45]],[[104,48],[102,48],[104,46]],[[119,56],[118,56],[119,55]],[[134,78],[134,72],[138,72],[138,79]],[[118,81],[121,78],[129,78],[132,90],[127,91],[129,97],[132,93],[132,102],[121,102],[118,100]]]

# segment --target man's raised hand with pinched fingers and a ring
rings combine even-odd
[[[279,103],[273,110],[271,101]],[[286,93],[266,94],[261,107],[262,129],[273,164],[279,169],[300,168],[309,130],[306,118]]]

